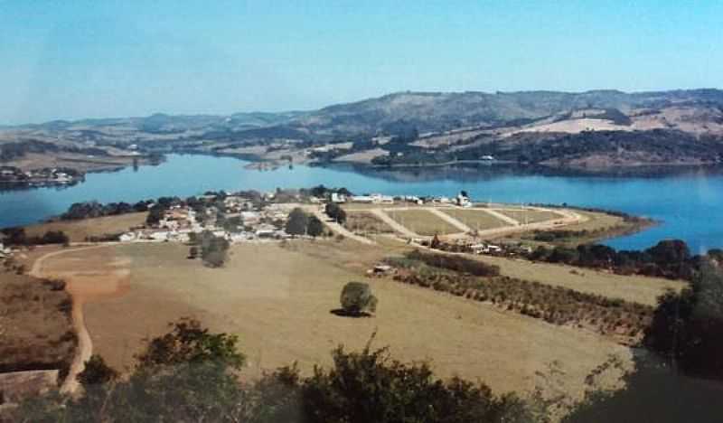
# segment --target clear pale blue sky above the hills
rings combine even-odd
[[[723,1],[0,0],[0,125],[723,87]]]

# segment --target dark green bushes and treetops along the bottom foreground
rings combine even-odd
[[[238,340],[183,320],[148,343],[127,378],[93,356],[79,375],[84,394],[30,400],[10,421],[502,422],[539,421],[514,394],[484,383],[437,379],[427,364],[390,359],[386,349],[333,351],[331,369],[302,377],[295,365],[239,382]]]

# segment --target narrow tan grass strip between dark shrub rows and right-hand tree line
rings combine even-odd
[[[568,287],[611,298],[623,298],[626,301],[646,305],[656,305],[656,298],[667,288],[680,291],[685,287],[682,281],[659,277],[620,276],[592,269],[532,263],[514,258],[477,256],[477,259],[499,266],[502,275],[505,276],[536,280],[547,285]]]

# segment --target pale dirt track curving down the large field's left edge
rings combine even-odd
[[[32,277],[45,277],[46,275],[42,274],[42,263],[48,258],[53,258],[56,256],[60,256],[61,254],[67,254],[70,252],[76,252],[85,249],[99,249],[103,247],[108,247],[109,245],[113,244],[106,243],[102,245],[80,247],[77,249],[61,249],[60,251],[53,251],[35,260],[35,262],[33,263],[33,268],[30,270],[29,274]],[[73,293],[72,289],[68,290],[68,293],[73,300],[71,316],[73,321],[73,328],[75,329],[75,333],[78,335],[78,352],[75,354],[73,361],[70,363],[70,371],[68,371],[68,376],[61,384],[61,392],[72,394],[75,393],[80,386],[80,383],[78,382],[78,373],[85,369],[85,362],[90,359],[90,355],[92,355],[93,353],[93,342],[90,340],[90,334],[83,318],[82,298],[76,295],[76,293]]]

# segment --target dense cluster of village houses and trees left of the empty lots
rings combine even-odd
[[[213,196],[209,196],[213,197]],[[200,200],[210,200],[199,197]],[[227,196],[223,202],[193,208],[173,205],[150,227],[136,228],[120,235],[121,242],[188,242],[192,234],[209,231],[230,242],[281,240],[290,238],[283,229],[296,204],[270,203],[257,207],[249,199]]]

